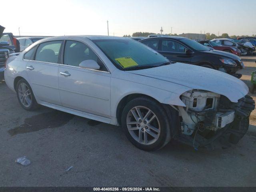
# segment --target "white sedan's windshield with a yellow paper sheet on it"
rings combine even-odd
[[[164,56],[131,39],[93,40],[120,70],[138,70],[170,64]]]

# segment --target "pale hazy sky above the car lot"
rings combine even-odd
[[[2,6],[3,4],[1,4]],[[6,5],[8,6],[8,5]],[[4,19],[6,17],[6,20]],[[4,32],[21,36],[134,32],[256,34],[256,0],[12,0]]]

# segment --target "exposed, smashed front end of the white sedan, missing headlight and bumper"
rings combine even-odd
[[[181,134],[176,138],[195,149],[236,144],[247,132],[255,108],[250,96],[232,103],[225,96],[204,90],[185,92],[181,100],[186,107],[178,106]]]

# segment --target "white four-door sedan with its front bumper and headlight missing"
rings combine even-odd
[[[122,125],[140,149],[170,140],[194,148],[248,130],[254,101],[228,74],[174,63],[129,38],[60,36],[32,44],[7,60],[6,84],[26,110],[40,105]]]

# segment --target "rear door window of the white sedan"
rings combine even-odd
[[[58,63],[62,41],[49,41],[41,43],[36,51],[36,61]]]

